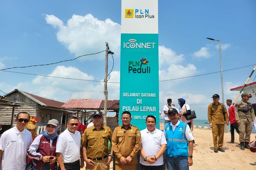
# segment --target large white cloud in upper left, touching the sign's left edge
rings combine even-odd
[[[119,55],[120,53],[121,26],[111,19],[102,21],[91,14],[73,15],[67,25],[64,25],[56,16],[46,14],[45,20],[46,23],[58,29],[58,41],[76,56],[103,51],[105,42],[109,43],[110,50],[115,54]],[[104,59],[102,55],[83,58],[85,60]]]

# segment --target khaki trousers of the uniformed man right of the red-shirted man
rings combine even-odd
[[[239,142],[250,142],[251,132],[252,132],[252,121],[240,120],[239,126]],[[245,134],[245,137],[244,137]]]

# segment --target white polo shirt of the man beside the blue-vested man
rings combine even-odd
[[[159,129],[150,132],[146,129],[140,131],[141,133],[141,147],[147,157],[155,156],[159,152],[161,145],[167,144],[165,135]],[[140,156],[140,164],[146,166],[159,166],[163,165],[163,156],[157,159],[153,164],[147,163]]]

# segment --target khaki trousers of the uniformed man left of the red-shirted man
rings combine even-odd
[[[224,127],[225,124],[212,124],[212,138],[214,149],[222,148]]]

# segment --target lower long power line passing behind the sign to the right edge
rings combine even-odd
[[[222,72],[230,71],[230,70],[236,70],[236,69],[245,68],[245,67],[250,67],[250,66],[255,66],[255,65],[256,65],[256,64],[249,65],[249,66],[238,67],[238,68],[232,68],[232,69],[228,69],[228,70],[223,70]],[[16,71],[6,71],[6,70],[0,70],[0,71],[12,72],[12,73],[20,73],[20,74],[29,74],[29,75],[38,75],[38,76],[43,76],[43,77],[52,77],[52,78],[59,78],[59,79],[82,80],[82,81],[91,81],[91,82],[100,82],[100,83],[104,83],[104,81],[96,81],[96,80],[73,79],[73,78],[55,77],[55,76],[49,76],[49,75],[31,74],[31,73],[16,72]],[[159,81],[159,82],[171,81],[171,80],[179,80],[179,79],[185,79],[185,78],[191,78],[191,77],[198,77],[198,76],[201,76],[201,75],[208,75],[208,74],[214,74],[214,73],[219,73],[219,72],[221,72],[221,71],[216,71],[216,72],[211,72],[211,73],[205,73],[205,74],[199,74],[199,75],[193,75],[193,76],[182,77],[182,78],[176,78],[176,79],[161,80],[161,81]],[[108,82],[108,83],[119,83],[119,82]]]

